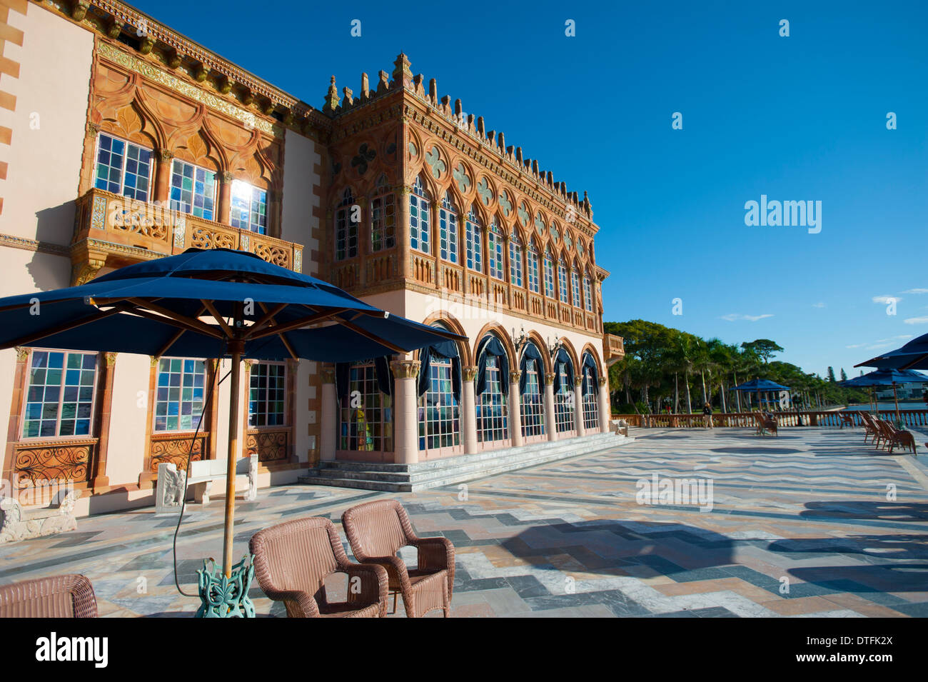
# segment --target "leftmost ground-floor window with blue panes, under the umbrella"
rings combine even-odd
[[[97,354],[32,351],[23,438],[90,435]]]

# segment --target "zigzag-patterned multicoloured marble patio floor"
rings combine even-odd
[[[453,616],[928,615],[928,466],[918,458],[880,454],[860,430],[634,431],[637,442],[614,452],[466,491],[261,490],[238,501],[235,556],[266,526],[328,516],[341,530],[345,508],[396,497],[420,535],[445,535],[457,548]],[[928,439],[917,440],[924,453]],[[655,474],[711,479],[711,510],[639,505],[636,483]],[[214,497],[185,517],[178,570],[187,592],[196,592],[202,559],[221,554],[222,513]],[[84,573],[101,615],[191,615],[199,599],[174,588],[174,523],[139,510],[2,546],[0,583]],[[251,595],[259,615],[284,615],[257,584]]]

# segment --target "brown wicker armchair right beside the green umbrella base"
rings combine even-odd
[[[352,563],[329,519],[288,521],[251,536],[254,573],[264,594],[284,602],[290,618],[382,618],[387,614],[387,573]],[[325,579],[348,574],[348,598],[329,602]],[[352,589],[355,578],[360,589]]]

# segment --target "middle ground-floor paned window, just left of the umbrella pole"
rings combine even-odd
[[[155,394],[155,431],[194,431],[203,414],[206,363],[162,357]]]

